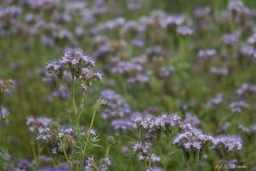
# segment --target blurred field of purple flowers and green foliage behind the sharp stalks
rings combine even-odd
[[[9,110],[6,133],[0,137],[8,142],[4,149],[14,161],[32,160],[28,116],[68,123],[70,97],[45,66],[61,57],[63,49],[81,48],[96,58],[103,73],[102,82],[85,94],[84,125],[90,123],[97,97],[111,89],[119,94],[117,104],[129,108],[120,118],[177,112],[208,133],[239,134],[242,150],[226,159],[255,170],[256,2],[239,2],[1,0],[0,77],[15,81],[3,104]],[[102,117],[105,107],[94,127],[102,140],[110,135],[117,140],[110,170],[142,170],[143,162],[131,150],[139,137],[136,128],[113,128],[113,118]],[[160,142],[161,151],[169,142]],[[182,160],[175,151],[170,170],[185,169]],[[213,170],[219,160],[208,151],[202,170]]]

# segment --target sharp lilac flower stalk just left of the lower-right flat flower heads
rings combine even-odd
[[[172,130],[177,128],[181,123],[181,117],[177,114],[163,114],[160,117],[137,117],[135,119],[137,129],[140,131],[141,142],[133,145],[133,151],[143,156],[145,167],[152,167],[152,156],[154,154],[154,146],[158,145],[161,134],[166,134],[169,139]],[[164,162],[164,170],[167,169],[167,164],[172,154],[171,143],[168,146],[168,154]]]

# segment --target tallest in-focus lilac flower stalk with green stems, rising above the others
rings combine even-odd
[[[102,74],[100,72],[93,71],[94,67],[95,60],[88,55],[84,55],[80,49],[73,48],[65,50],[61,59],[52,60],[47,65],[49,73],[54,73],[55,76],[58,77],[60,82],[66,88],[68,94],[72,97],[74,110],[72,123],[74,126],[71,128],[56,127],[55,135],[57,137],[56,141],[59,142],[59,147],[54,149],[54,152],[61,151],[61,153],[64,154],[70,170],[84,170],[84,160],[88,156],[88,152],[91,148],[96,146],[93,145],[93,143],[98,141],[92,127],[96,117],[96,111],[99,110],[103,101],[101,99],[96,101],[96,105],[94,105],[93,108],[90,128],[85,131],[80,125],[80,117],[82,113],[79,110],[75,94],[77,83],[79,83],[84,94],[91,83],[102,79]],[[71,85],[65,83],[65,80],[63,79],[64,71],[70,72],[72,76]],[[84,101],[84,99],[82,101]],[[46,134],[48,134],[47,130]],[[49,137],[51,137],[51,135]],[[72,152],[74,148],[78,149],[76,153]],[[76,156],[78,156],[78,159],[76,159]]]

